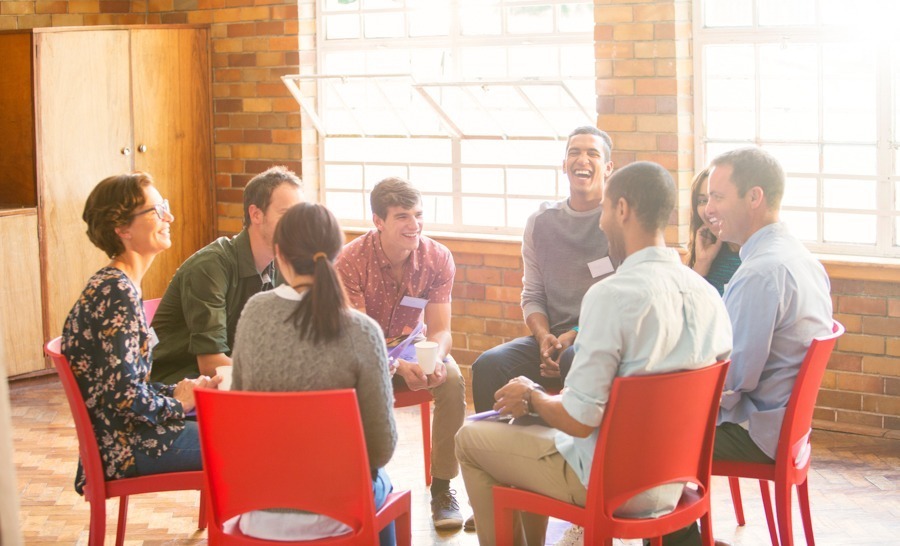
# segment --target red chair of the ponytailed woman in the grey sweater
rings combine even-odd
[[[211,545],[268,544],[241,533],[232,518],[251,510],[293,508],[340,520],[353,531],[277,544],[371,546],[378,544],[378,532],[396,520],[397,542],[409,546],[409,491],[389,494],[375,510],[354,390],[194,392],[210,494]]]

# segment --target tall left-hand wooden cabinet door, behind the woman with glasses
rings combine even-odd
[[[129,172],[131,89],[128,31],[36,35],[37,144],[44,320],[49,337],[87,279],[109,259],[81,219],[93,187]]]

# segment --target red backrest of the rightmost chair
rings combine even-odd
[[[814,338],[807,349],[781,425],[781,435],[775,453],[776,466],[784,464],[797,470],[809,467],[811,450],[809,435],[812,431],[816,398],[822,384],[822,376],[825,375],[825,368],[828,366],[828,359],[837,338],[843,334],[844,326],[838,321],[833,321],[832,333]]]

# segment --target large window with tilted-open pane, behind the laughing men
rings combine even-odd
[[[517,234],[568,194],[566,136],[596,122],[592,1],[319,0],[317,23],[304,109],[343,224],[370,224],[388,176],[445,231]]]

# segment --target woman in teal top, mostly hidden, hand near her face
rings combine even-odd
[[[714,234],[714,228],[706,217],[709,201],[706,182],[709,169],[703,169],[691,183],[691,237],[688,242],[688,267],[703,276],[716,287],[719,295],[741,265],[740,247],[724,243]]]

